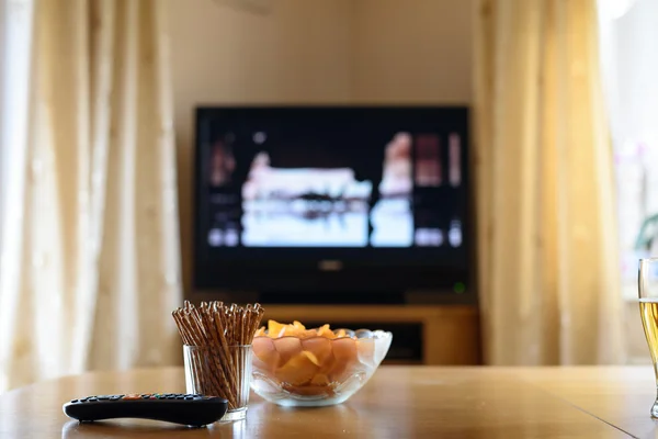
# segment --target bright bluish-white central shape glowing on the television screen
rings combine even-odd
[[[251,164],[242,187],[245,246],[364,247],[368,217],[373,246],[413,243],[410,209],[410,138],[397,134],[386,146],[381,199],[370,210],[373,182],[355,179],[350,168],[277,169],[265,153]]]

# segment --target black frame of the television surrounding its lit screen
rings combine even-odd
[[[200,254],[205,246],[205,236],[201,230],[201,192],[204,190],[203,179],[200,178],[204,166],[200,154],[203,145],[200,136],[201,124],[207,113],[218,111],[246,110],[246,109],[411,109],[430,111],[461,111],[466,126],[463,132],[464,169],[463,181],[466,185],[467,202],[465,203],[464,218],[464,247],[467,252],[467,263],[464,268],[438,267],[422,261],[412,263],[351,266],[340,261],[339,270],[322,270],[318,264],[322,261],[336,268],[332,258],[314,259],[313,261],[296,260],[281,261],[268,259],[264,261],[240,261],[237,263],[225,262],[223,272],[217,273],[209,264],[201,263]],[[398,303],[405,301],[406,293],[420,293],[433,296],[430,301],[447,303],[475,303],[476,281],[474,248],[476,244],[473,181],[472,181],[472,133],[470,110],[467,105],[334,105],[334,104],[287,104],[287,105],[200,105],[194,109],[194,167],[193,167],[193,269],[192,291],[186,296],[193,299],[202,296],[204,300],[217,294],[228,294],[235,301],[241,295],[259,295],[261,302],[268,303]],[[274,249],[269,249],[274,250]],[[288,250],[288,249],[286,249]],[[386,251],[386,249],[381,249]],[[265,250],[268,251],[268,250]],[[216,264],[216,263],[215,263]],[[282,272],[283,270],[283,272]],[[349,279],[349,281],[348,281]],[[408,279],[417,279],[410,286]],[[374,281],[375,280],[375,281]],[[461,294],[454,292],[457,282],[465,282],[466,290]],[[308,294],[326,293],[326,294]],[[332,294],[332,296],[328,296]],[[401,297],[401,299],[400,299]]]

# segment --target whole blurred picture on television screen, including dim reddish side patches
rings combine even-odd
[[[208,182],[219,192],[211,195],[211,247],[461,246],[462,221],[446,201],[461,185],[457,134],[446,145],[436,134],[393,134],[375,162],[365,161],[377,168],[373,178],[360,178],[364,172],[350,160],[277,166],[272,154],[282,148],[269,148],[269,140],[266,132],[252,133],[253,147],[241,155],[226,140],[212,145]],[[236,178],[240,160],[248,169]],[[220,191],[231,184],[235,193]]]

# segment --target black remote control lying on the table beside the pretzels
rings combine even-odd
[[[73,399],[64,413],[81,423],[139,418],[202,427],[222,419],[228,402],[217,396],[180,393],[99,395]]]

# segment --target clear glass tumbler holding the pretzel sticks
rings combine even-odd
[[[220,421],[245,419],[249,403],[251,345],[184,346],[186,392],[220,396],[228,412]]]

